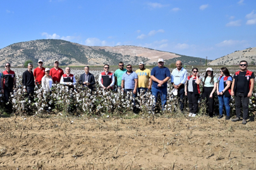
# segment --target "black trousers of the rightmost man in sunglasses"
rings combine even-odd
[[[235,105],[236,105],[236,117],[238,118],[241,117],[241,106],[243,106],[243,119],[247,119],[249,98],[247,96],[244,96],[243,93],[236,92]]]

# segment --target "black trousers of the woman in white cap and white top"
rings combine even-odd
[[[214,87],[204,87],[203,93],[202,93],[202,99],[204,99],[206,104],[206,111],[209,114],[209,116],[214,115],[214,93],[212,94],[212,98],[210,98],[210,93],[212,93],[212,89]]]

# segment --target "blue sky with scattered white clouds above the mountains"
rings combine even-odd
[[[256,47],[256,1],[0,1],[0,48],[56,38],[216,59]]]

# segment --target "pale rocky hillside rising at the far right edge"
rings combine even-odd
[[[241,60],[246,60],[248,64],[255,64],[256,47],[237,50],[231,54],[209,62],[209,65],[238,65]]]

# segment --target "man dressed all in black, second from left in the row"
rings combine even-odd
[[[23,72],[22,75],[22,84],[23,88],[27,92],[27,96],[29,99],[32,99],[34,96],[34,88],[35,88],[35,79],[32,72],[33,64],[28,63],[27,71]]]

